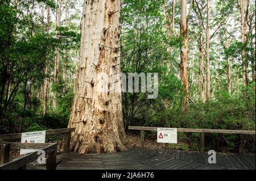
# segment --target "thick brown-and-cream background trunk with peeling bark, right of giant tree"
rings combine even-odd
[[[188,23],[187,23],[187,1],[181,0],[180,13],[180,79],[184,85],[184,98],[181,100],[181,109],[188,110]]]

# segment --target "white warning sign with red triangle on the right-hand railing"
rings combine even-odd
[[[157,142],[177,144],[177,128],[158,128]]]

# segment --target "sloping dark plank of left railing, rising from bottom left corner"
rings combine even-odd
[[[47,148],[43,149],[46,151],[46,154],[52,153],[52,151],[55,151],[57,149],[57,144],[52,144],[47,146]],[[32,161],[35,161],[38,159],[38,153],[30,153],[28,155],[24,155],[21,158],[15,159],[11,162],[5,163],[0,166],[0,170],[16,170],[20,167],[23,167],[24,165],[27,165],[28,163],[31,163]]]

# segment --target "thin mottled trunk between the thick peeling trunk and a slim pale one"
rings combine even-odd
[[[204,85],[205,85],[205,81],[204,81],[204,39],[203,39],[203,35],[201,35],[200,37],[200,47],[199,47],[199,51],[200,51],[200,83],[199,83],[199,87],[200,87],[200,98],[203,102],[205,102],[205,92],[204,92]]]

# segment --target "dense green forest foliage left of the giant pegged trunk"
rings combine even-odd
[[[0,2],[0,133],[67,126],[73,88],[69,83],[64,88],[60,76],[60,82],[49,89],[49,95],[51,91],[59,92],[60,105],[54,111],[48,105],[50,117],[56,123],[49,124],[47,117],[42,117],[42,86],[45,78],[52,76],[56,48],[61,53],[59,75],[63,71],[67,71],[68,76],[74,73],[71,61],[74,53],[69,51],[79,49],[79,26],[71,22],[69,28],[47,32],[46,22],[42,22],[40,12],[35,11],[43,4],[52,10],[56,7],[52,0],[19,1],[18,5],[14,1]],[[58,38],[55,31],[59,31]],[[48,74],[45,74],[46,66]]]

